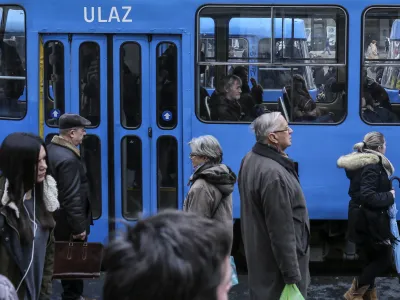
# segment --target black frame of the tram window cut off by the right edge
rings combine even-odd
[[[381,11],[381,12],[379,12]],[[389,97],[389,102],[390,102],[390,106],[391,108],[395,108],[397,110],[397,114],[396,117],[397,119],[399,119],[399,121],[397,122],[370,122],[368,120],[365,119],[365,117],[363,116],[363,103],[365,102],[365,97],[363,97],[363,82],[364,82],[364,73],[367,72],[367,76],[368,76],[368,69],[369,68],[374,68],[374,67],[383,67],[384,71],[382,74],[382,81],[384,80],[384,76],[385,76],[385,68],[386,67],[394,67],[394,68],[398,68],[400,69],[400,58],[399,59],[395,59],[395,58],[378,58],[378,59],[372,59],[372,58],[366,58],[366,54],[368,51],[368,47],[370,45],[369,41],[366,40],[366,33],[367,31],[367,20],[368,20],[368,13],[371,13],[377,17],[373,17],[370,19],[376,19],[376,20],[391,20],[391,18],[388,18],[388,11],[393,11],[395,14],[397,12],[397,15],[399,16],[400,19],[400,6],[384,6],[384,5],[373,5],[373,6],[368,6],[364,9],[363,13],[362,13],[362,18],[361,18],[361,34],[362,34],[362,44],[360,47],[360,99],[359,99],[359,117],[361,119],[361,121],[363,121],[365,124],[369,125],[369,126],[399,126],[400,125],[400,102],[390,102],[390,97],[389,97],[389,93],[386,89],[391,89],[391,90],[400,90],[400,89],[393,89],[393,88],[387,88],[386,85],[379,83],[380,87],[384,88],[386,90],[387,96]],[[381,16],[379,18],[379,15]],[[388,28],[389,31],[391,31],[391,27]],[[388,36],[391,36],[391,32],[388,33]],[[373,40],[373,39],[372,39]],[[391,39],[391,42],[393,40]],[[396,40],[397,41],[397,40]],[[368,42],[368,44],[366,44],[366,42]],[[377,41],[378,42],[378,41]],[[400,49],[400,39],[398,40],[398,47]],[[389,48],[391,47],[391,45],[389,45]],[[390,51],[390,50],[389,50]],[[377,62],[377,63],[374,63]],[[388,70],[389,71],[389,70]],[[390,74],[390,76],[392,76],[392,74]],[[400,72],[399,75],[397,76],[397,78],[400,77]],[[375,81],[375,79],[374,79]],[[398,80],[398,82],[400,82]],[[396,84],[397,85],[397,84]],[[395,86],[396,86],[395,85]],[[396,92],[395,92],[396,93]],[[398,92],[397,92],[398,93]],[[364,100],[363,100],[364,98]],[[400,95],[399,95],[399,99],[400,99]],[[376,100],[376,99],[374,99]],[[379,101],[375,101],[375,103],[377,103]],[[367,106],[367,103],[365,102],[365,105]],[[381,105],[379,105],[381,108]]]

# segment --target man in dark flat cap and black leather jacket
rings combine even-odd
[[[86,167],[78,146],[86,135],[85,127],[91,123],[75,115],[64,114],[59,119],[59,135],[54,136],[47,152],[51,172],[57,181],[60,209],[55,212],[56,241],[86,240],[93,225],[89,201],[89,182]],[[83,280],[61,280],[63,300],[84,299]]]

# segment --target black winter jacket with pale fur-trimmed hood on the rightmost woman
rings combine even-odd
[[[388,161],[387,161],[388,162]],[[384,162],[385,163],[385,162]],[[390,231],[389,207],[394,203],[391,183],[382,158],[372,153],[351,153],[339,158],[338,166],[350,179],[348,239],[357,244],[395,239]]]

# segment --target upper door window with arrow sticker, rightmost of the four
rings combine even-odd
[[[157,123],[173,129],[178,122],[178,49],[175,44],[157,45]]]

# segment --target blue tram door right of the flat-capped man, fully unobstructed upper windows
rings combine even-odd
[[[181,39],[114,37],[115,214],[182,205]]]

